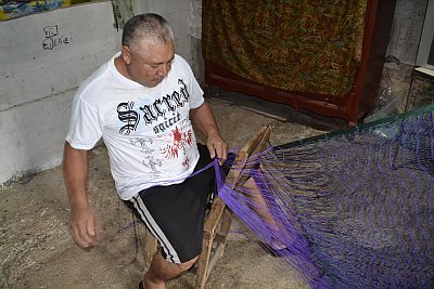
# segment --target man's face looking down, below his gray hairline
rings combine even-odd
[[[170,71],[175,57],[174,42],[151,44],[140,42],[131,49],[122,48],[128,76],[143,87],[153,88]]]

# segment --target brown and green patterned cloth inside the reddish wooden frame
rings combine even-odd
[[[205,61],[277,89],[344,96],[368,0],[204,0]]]

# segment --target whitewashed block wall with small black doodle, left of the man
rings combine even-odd
[[[0,23],[0,184],[61,163],[72,97],[117,34],[111,2]]]

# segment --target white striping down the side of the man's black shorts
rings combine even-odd
[[[148,211],[148,208],[144,205],[142,198],[139,195],[132,198],[135,199],[133,206],[139,212],[142,221],[146,224],[146,227],[151,231],[152,235],[156,237],[159,245],[162,246],[163,251],[166,254],[166,260],[173,263],[181,263],[178,253],[175,251],[175,248],[171,246],[166,235],[164,235],[163,231],[159,228],[157,223],[152,218],[151,213]]]

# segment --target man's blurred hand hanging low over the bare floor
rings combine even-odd
[[[73,209],[69,229],[75,242],[82,249],[91,249],[99,241],[97,218],[89,208]]]

